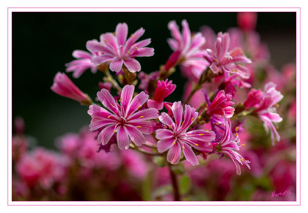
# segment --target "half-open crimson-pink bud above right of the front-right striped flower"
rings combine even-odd
[[[206,92],[204,90],[204,92]],[[219,91],[219,93],[215,96],[213,102],[209,105],[206,113],[212,117],[213,115],[220,115],[223,117],[224,113],[226,118],[231,118],[234,114],[234,108],[231,105],[234,102],[231,101],[232,96],[230,94],[225,94],[224,90]]]

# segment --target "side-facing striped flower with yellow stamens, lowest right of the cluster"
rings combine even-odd
[[[228,156],[233,161],[235,166],[237,167],[237,174],[241,175],[240,164],[241,165],[244,164],[250,169],[250,166],[248,164],[250,163],[250,161],[245,160],[241,156],[241,154],[236,151],[236,150],[240,150],[240,147],[241,147],[239,134],[235,133],[235,135],[233,135],[232,130],[231,130],[232,128],[231,128],[230,119],[227,119],[226,117],[224,118],[225,118],[225,132],[218,146],[216,146],[214,150],[220,151],[221,153]]]

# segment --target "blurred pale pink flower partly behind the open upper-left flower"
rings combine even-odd
[[[91,60],[98,55],[97,52],[86,52],[83,50],[74,50],[73,56],[76,60],[65,64],[66,72],[73,72],[74,78],[79,78],[82,73],[90,69],[92,73],[97,72],[97,67],[91,63]]]

